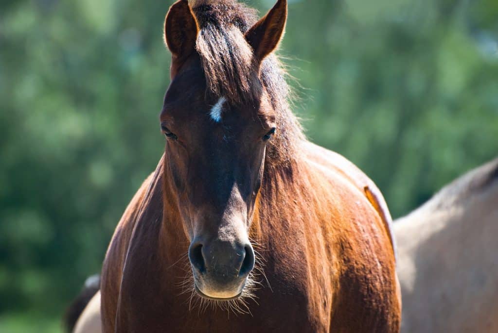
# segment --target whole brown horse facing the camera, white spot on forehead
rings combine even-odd
[[[273,54],[286,17],[285,0],[259,21],[234,0],[171,6],[165,153],[109,246],[104,332],[399,331],[389,212],[304,139]]]

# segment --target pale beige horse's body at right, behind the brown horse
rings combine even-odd
[[[498,332],[498,160],[394,223],[402,332]]]

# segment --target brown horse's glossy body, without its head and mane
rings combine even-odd
[[[391,244],[364,194],[364,187],[372,185],[363,173],[343,169],[347,161],[339,155],[304,145],[305,161],[292,178],[282,180],[278,188],[263,184],[261,190],[252,233],[261,243],[258,255],[265,262],[261,268],[266,279],[254,291],[255,301],[248,300],[248,308],[237,305],[250,315],[203,308],[196,304],[199,300],[190,299],[190,290],[182,294],[178,283],[188,271],[179,261],[185,258],[189,242],[175,230],[178,225],[173,219],[178,212],[160,207],[168,194],[161,189],[164,171],[159,163],[127,208],[107,254],[106,283],[102,284],[103,294],[109,295],[103,297],[108,319],[104,332],[144,328],[147,332],[164,328],[171,332],[397,332],[399,313],[392,309],[400,309],[400,298]],[[276,211],[269,209],[275,205],[274,198],[280,207]],[[132,234],[140,243],[128,251],[122,274],[124,245],[131,242]],[[174,238],[161,240],[168,234]]]

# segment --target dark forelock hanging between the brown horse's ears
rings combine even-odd
[[[192,12],[199,32],[196,51],[208,92],[230,102],[250,101],[257,91],[252,82],[252,50],[244,33],[256,21],[255,11],[235,1],[194,1]]]

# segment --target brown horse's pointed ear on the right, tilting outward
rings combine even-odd
[[[278,46],[287,21],[287,1],[278,0],[270,11],[246,32],[246,40],[257,61],[262,61]]]

